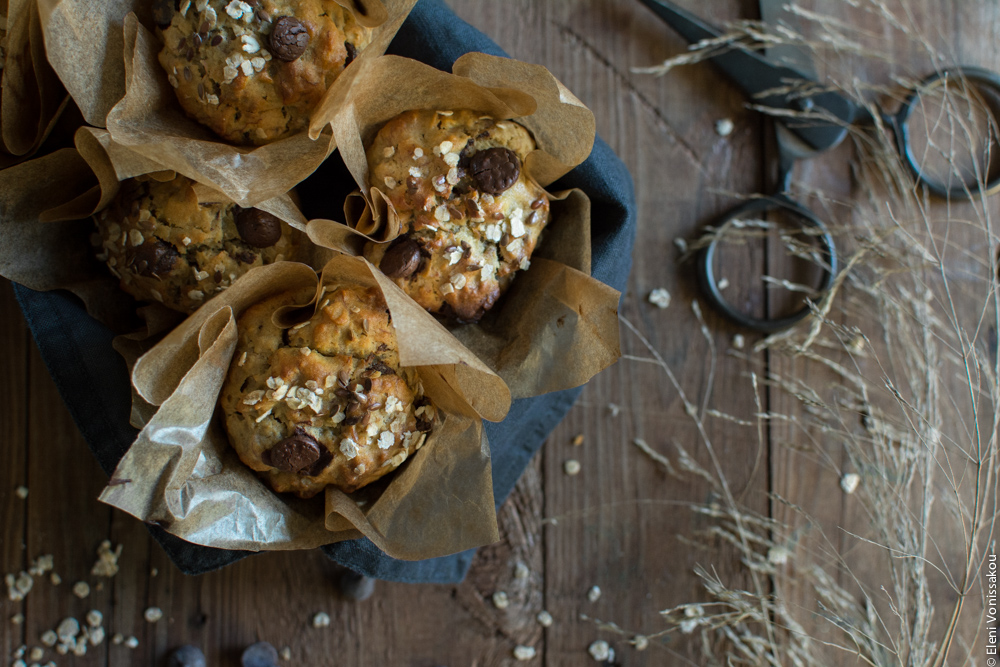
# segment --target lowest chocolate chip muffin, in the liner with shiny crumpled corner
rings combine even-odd
[[[311,296],[279,294],[240,316],[220,399],[240,459],[303,498],[328,484],[350,493],[395,470],[437,420],[416,372],[400,366],[376,289],[331,287],[310,319],[275,324],[277,309]]]

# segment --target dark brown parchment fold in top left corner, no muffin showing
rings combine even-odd
[[[34,0],[0,4],[7,47],[0,76],[0,169],[23,161],[45,141],[69,97],[45,57]]]

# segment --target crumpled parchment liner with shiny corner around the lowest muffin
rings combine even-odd
[[[364,535],[390,556],[412,560],[496,541],[480,415],[506,414],[503,382],[363,259],[338,255],[323,280],[377,285],[385,295],[401,362],[417,367],[427,395],[446,413],[419,452],[384,484],[352,496],[328,488],[324,507],[273,493],[228,446],[213,415],[236,318],[272,294],[317,286],[309,267],[282,262],[247,273],[139,359],[133,384],[159,410],[101,500],[189,542],[226,549],[306,549]]]

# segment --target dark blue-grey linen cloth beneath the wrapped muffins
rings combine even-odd
[[[458,18],[442,0],[420,0],[403,24],[389,53],[414,58],[442,70],[464,53],[506,56],[486,35]],[[580,188],[592,201],[593,276],[624,290],[635,242],[635,194],[621,160],[599,137],[590,157],[552,186]],[[353,181],[334,154],[300,187],[309,217],[337,216]],[[331,202],[336,205],[331,206]],[[329,210],[328,215],[324,211]],[[35,292],[20,285],[15,293],[42,358],[84,439],[109,475],[137,435],[129,425],[131,392],[122,358],[112,349],[114,334],[87,315],[76,297],[61,291]],[[528,461],[579,396],[581,389],[515,401],[499,424],[486,424],[493,463],[493,493],[503,503]],[[229,551],[190,544],[149,526],[174,564],[185,574],[203,574],[242,558]],[[369,577],[410,583],[461,581],[475,550],[424,561],[385,555],[367,539],[322,547],[332,560]]]

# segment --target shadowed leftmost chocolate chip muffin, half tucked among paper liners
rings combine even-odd
[[[194,181],[124,181],[96,216],[98,259],[122,289],[191,313],[256,266],[292,259],[294,232],[255,208],[199,202]]]

